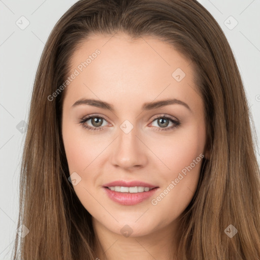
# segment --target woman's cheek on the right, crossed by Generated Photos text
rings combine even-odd
[[[158,146],[157,154],[164,166],[160,172],[161,190],[152,205],[164,214],[177,217],[188,206],[197,189],[203,161],[205,132],[201,127],[180,130],[165,145]],[[155,211],[156,211],[155,209]]]

